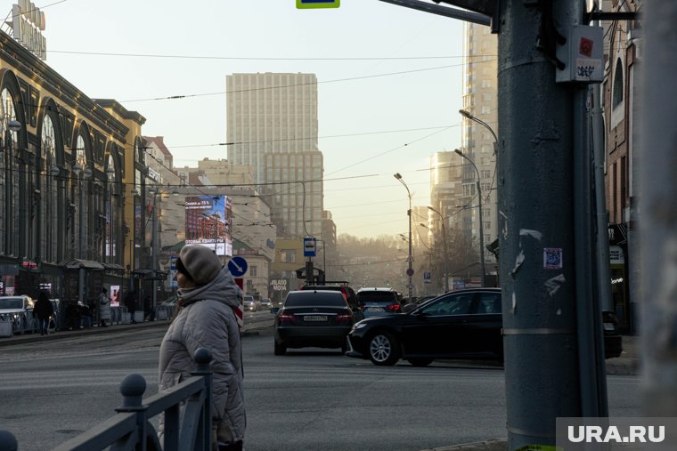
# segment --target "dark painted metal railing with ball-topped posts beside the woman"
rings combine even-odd
[[[97,424],[53,451],[211,451],[211,351],[195,353],[197,371],[182,383],[143,399],[146,381],[128,374],[120,383],[122,407],[118,414]],[[150,420],[165,415],[163,444]],[[0,431],[0,449],[17,451],[12,433]]]

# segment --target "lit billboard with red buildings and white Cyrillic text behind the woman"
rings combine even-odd
[[[212,248],[232,256],[232,204],[227,196],[185,198],[185,244]]]

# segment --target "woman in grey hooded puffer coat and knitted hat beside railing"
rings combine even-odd
[[[219,450],[241,450],[245,431],[239,306],[231,273],[205,246],[184,246],[176,260],[178,311],[159,349],[159,390],[165,391],[197,369],[195,352],[212,354],[212,418]],[[160,418],[159,436],[164,436]]]

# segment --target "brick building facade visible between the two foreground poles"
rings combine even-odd
[[[633,12],[641,2],[607,0],[603,10]],[[624,332],[636,330],[639,268],[635,217],[637,214],[636,161],[640,154],[634,111],[640,62],[641,30],[634,20],[602,22],[605,36],[605,77],[602,105],[605,124],[605,192],[607,198],[612,308]]]

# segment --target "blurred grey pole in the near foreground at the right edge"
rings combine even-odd
[[[677,416],[677,165],[674,18],[677,2],[648,2],[641,76],[641,355],[644,413]]]

